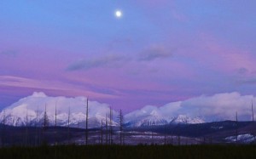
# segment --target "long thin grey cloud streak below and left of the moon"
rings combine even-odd
[[[127,60],[125,57],[119,55],[108,55],[95,59],[84,59],[78,60],[67,67],[67,71],[79,71],[79,70],[89,70],[98,67],[110,67],[113,65],[118,65],[122,61]]]

